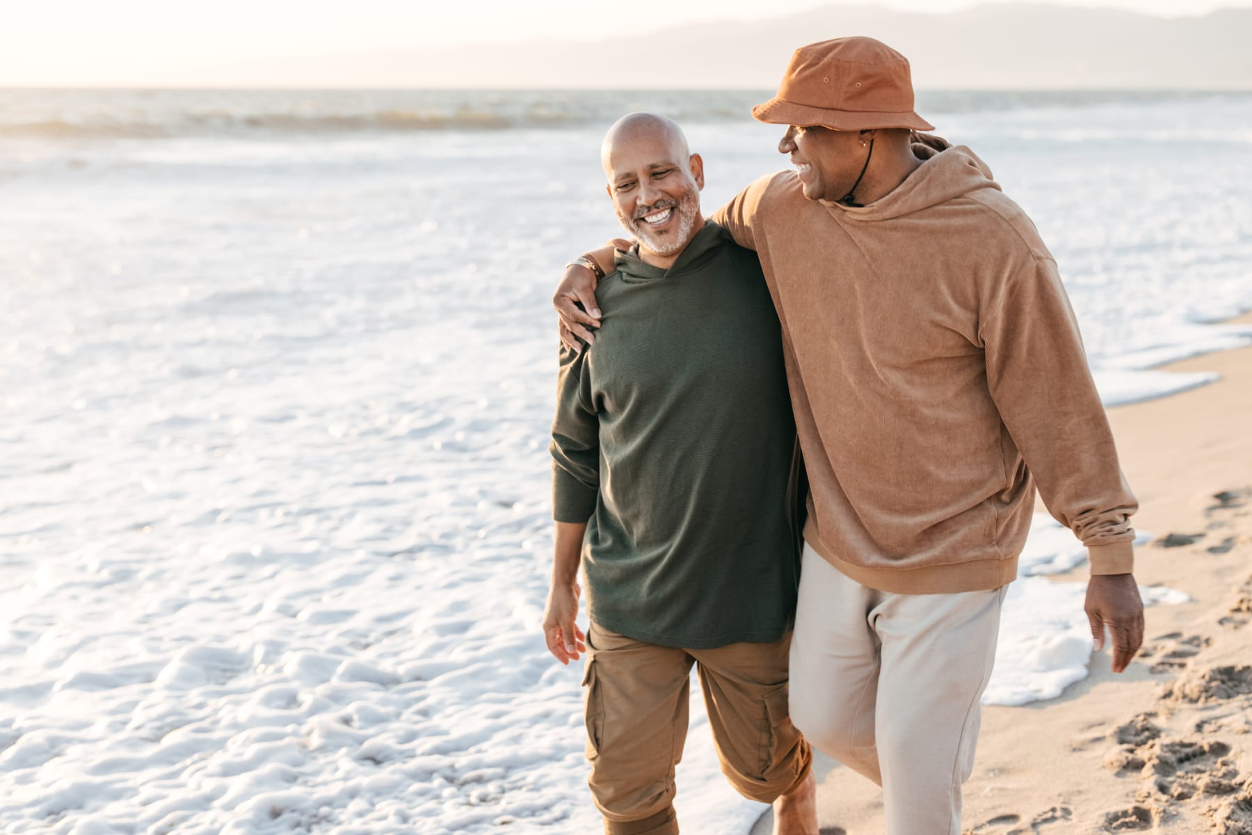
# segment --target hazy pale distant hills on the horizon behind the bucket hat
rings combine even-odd
[[[475,45],[267,64],[275,83],[424,88],[775,88],[791,50],[870,35],[904,53],[918,88],[1252,89],[1252,9],[1164,19],[1043,4],[950,14],[831,5],[652,35]]]

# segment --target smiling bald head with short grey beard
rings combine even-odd
[[[631,114],[605,136],[601,161],[617,218],[641,254],[672,263],[704,227],[704,161],[664,116]]]

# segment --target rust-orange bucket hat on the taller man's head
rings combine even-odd
[[[908,59],[873,38],[836,38],[795,50],[779,94],[752,108],[752,116],[834,130],[934,130],[913,110]]]

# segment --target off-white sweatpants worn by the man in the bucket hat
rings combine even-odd
[[[1004,588],[896,595],[804,547],[791,721],[883,786],[886,835],[959,835]]]

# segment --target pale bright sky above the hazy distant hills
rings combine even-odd
[[[18,0],[5,3],[0,15],[0,86],[177,85],[233,61],[506,40],[598,40],[697,20],[777,18],[849,1]],[[979,3],[860,5],[942,13]],[[1064,5],[1182,16],[1252,6],[1252,0],[1069,0]]]

